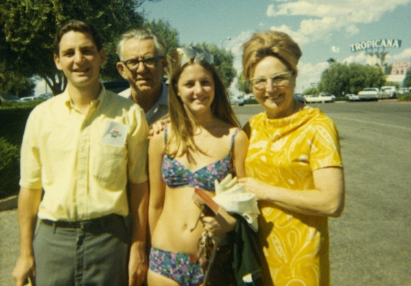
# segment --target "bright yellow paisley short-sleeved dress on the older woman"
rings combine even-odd
[[[312,171],[342,167],[338,131],[318,108],[289,117],[260,113],[245,128],[248,177],[295,190],[314,189]],[[266,257],[263,285],[329,285],[328,219],[259,202],[259,237]],[[269,270],[267,270],[267,267]]]

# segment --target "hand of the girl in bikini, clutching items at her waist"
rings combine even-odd
[[[219,237],[234,230],[236,226],[236,218],[229,215],[224,208],[220,208],[218,214],[214,217],[202,217],[204,229],[211,235],[211,237]]]

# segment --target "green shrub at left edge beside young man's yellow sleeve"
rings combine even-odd
[[[16,145],[0,138],[0,198],[18,192],[18,178],[20,178],[20,157]]]

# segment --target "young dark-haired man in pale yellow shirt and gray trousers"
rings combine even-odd
[[[68,85],[27,121],[14,283],[141,285],[147,273],[145,112],[100,84],[105,51],[94,27],[71,20],[54,47]],[[123,221],[129,211],[132,241]]]

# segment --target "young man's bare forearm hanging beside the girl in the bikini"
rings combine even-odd
[[[140,286],[147,275],[148,263],[145,253],[147,237],[147,211],[149,184],[129,184],[129,205],[132,215],[132,246],[129,259],[129,285]]]

